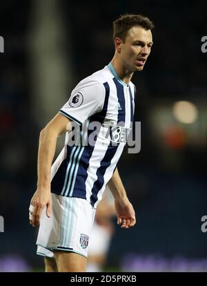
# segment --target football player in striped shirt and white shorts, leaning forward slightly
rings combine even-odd
[[[134,115],[130,80],[150,55],[153,24],[141,15],[123,15],[113,27],[110,64],[79,82],[40,133],[37,190],[29,210],[30,225],[40,224],[37,254],[45,256],[46,271],[85,271],[95,210],[106,186],[115,198],[118,225],[129,229],[136,222],[117,162]],[[70,144],[76,132],[79,144]],[[65,146],[52,164],[57,137],[65,133]]]

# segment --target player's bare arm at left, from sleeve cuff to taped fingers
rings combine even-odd
[[[46,207],[46,214],[50,217],[52,205],[50,192],[50,170],[55,155],[57,137],[70,131],[70,120],[57,114],[39,135],[39,151],[37,160],[37,190],[30,202],[30,225],[39,225],[41,213]]]

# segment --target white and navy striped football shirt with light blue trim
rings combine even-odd
[[[132,127],[134,99],[134,84],[122,82],[112,64],[86,77],[72,90],[59,113],[79,124],[82,138],[93,132],[89,128],[84,131],[83,125],[99,122],[101,127],[96,131],[95,144],[88,146],[71,146],[71,135],[66,133],[65,146],[52,165],[52,193],[83,198],[97,207]]]

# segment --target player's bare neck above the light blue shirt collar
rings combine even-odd
[[[111,64],[122,82],[124,82],[125,84],[129,84],[133,73],[128,70],[126,66],[124,66],[124,63],[120,59],[117,58],[116,53],[115,56],[112,58]]]

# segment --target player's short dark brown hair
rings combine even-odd
[[[139,26],[145,30],[152,30],[154,28],[154,24],[148,17],[132,14],[121,15],[119,19],[113,22],[114,40],[116,37],[119,37],[122,41],[125,41],[128,30],[134,26]]]

